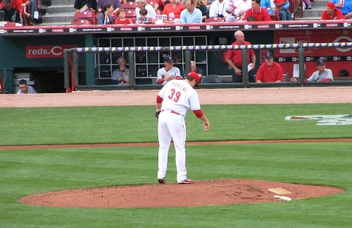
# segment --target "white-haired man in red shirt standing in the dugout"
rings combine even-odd
[[[244,40],[244,33],[240,30],[234,32],[234,37],[236,41],[231,45],[249,45],[250,42]],[[241,83],[242,82],[242,51],[241,50],[227,50],[226,52],[227,64],[231,66],[234,70],[232,73],[232,82]],[[249,68],[249,82],[254,83],[254,73],[253,70],[256,68],[256,54],[254,54],[253,49],[248,49],[247,51],[247,62],[251,63],[251,68]]]

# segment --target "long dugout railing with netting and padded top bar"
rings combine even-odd
[[[253,49],[257,56],[255,73],[263,63],[263,53],[272,52],[274,61],[282,65],[285,81],[282,83],[249,83],[247,50]],[[151,68],[151,74],[140,75],[136,66],[147,65],[148,59],[139,56],[181,55],[180,71],[188,73],[191,61],[201,55],[203,76],[218,75],[225,80],[222,83],[200,84],[199,88],[255,88],[255,87],[306,87],[352,85],[352,76],[338,77],[339,71],[352,73],[352,42],[339,43],[302,43],[302,44],[252,44],[252,45],[204,45],[204,46],[177,46],[177,47],[82,47],[64,50],[64,86],[66,91],[72,90],[145,90],[157,89],[162,85],[156,84],[157,68]],[[224,58],[227,50],[241,50],[242,82],[232,83],[232,69],[228,68]],[[130,85],[119,86],[111,83],[111,71],[103,71],[100,64],[101,56],[124,56],[130,69]],[[306,82],[313,71],[316,71],[315,62],[325,59],[326,68],[333,68],[334,81]],[[220,60],[219,60],[220,59]],[[105,59],[103,61],[106,61]],[[144,64],[144,61],[145,64]],[[151,64],[149,64],[151,65]],[[148,65],[148,66],[149,66]],[[158,62],[156,66],[162,66]],[[105,65],[104,65],[105,66]],[[113,64],[111,65],[113,66]],[[116,66],[115,66],[116,67]],[[112,68],[113,69],[113,68]],[[103,73],[102,73],[103,72]],[[289,78],[295,76],[298,82],[291,82]],[[141,83],[142,82],[142,83]]]

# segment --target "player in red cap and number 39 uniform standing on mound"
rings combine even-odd
[[[198,94],[194,86],[200,82],[195,72],[188,73],[184,80],[170,80],[156,97],[156,117],[158,118],[158,182],[165,184],[168,167],[168,152],[171,138],[175,145],[178,184],[193,184],[187,178],[186,169],[186,124],[184,117],[188,109],[203,121],[203,129],[209,130],[209,121],[201,110]]]

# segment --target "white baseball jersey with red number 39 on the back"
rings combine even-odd
[[[188,109],[201,109],[196,90],[184,80],[170,80],[158,95],[163,98],[162,110],[174,111],[186,116]]]

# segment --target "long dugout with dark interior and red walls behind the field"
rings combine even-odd
[[[6,69],[6,90],[14,93],[16,73],[29,73],[34,81],[34,88],[38,92],[65,92],[63,89],[63,49],[73,47],[144,47],[166,45],[227,45],[234,42],[234,32],[242,30],[246,41],[252,44],[284,44],[284,43],[310,43],[310,42],[352,42],[351,20],[327,23],[323,21],[270,21],[265,24],[256,22],[247,23],[211,23],[201,25],[145,25],[143,27],[131,25],[121,27],[118,25],[89,25],[89,26],[34,26],[23,28],[1,28],[0,47],[5,58],[1,58],[1,73]],[[180,37],[173,39],[173,37]],[[183,37],[193,37],[193,41]],[[200,38],[204,37],[204,39]],[[124,39],[127,42],[124,42]],[[170,42],[163,42],[169,39]],[[132,42],[133,40],[133,42]],[[172,43],[175,40],[175,43]],[[178,40],[178,41],[177,41]],[[199,43],[199,40],[203,40]],[[205,41],[204,41],[205,40]],[[122,42],[120,42],[122,41]],[[150,44],[149,44],[150,43]],[[120,45],[119,45],[120,44]],[[134,45],[132,45],[134,44]],[[318,49],[317,49],[318,50]],[[314,50],[313,50],[314,51]],[[257,63],[260,66],[263,53],[256,53]],[[275,52],[275,61],[280,61],[284,73],[294,74],[292,57],[289,53]],[[332,68],[334,76],[346,69],[352,73],[351,49],[334,50],[334,52],[306,53],[306,73],[310,74],[315,69],[315,59],[327,56],[327,68]],[[141,57],[139,61],[139,57]],[[94,79],[96,85],[103,85],[113,71],[113,58],[110,62],[101,64],[96,57],[84,59],[80,72],[82,83],[87,83],[87,78]],[[106,61],[106,60],[105,60]],[[149,85],[155,79],[150,77],[162,63],[151,66],[153,73],[149,73],[149,64],[144,56],[136,56],[136,83]],[[184,61],[184,59],[182,59]],[[206,68],[206,74],[229,76],[230,71],[224,63],[221,52],[207,56],[207,62],[197,61],[197,65]],[[297,59],[295,61],[298,61]],[[100,67],[97,68],[97,63]],[[143,68],[143,65],[146,67]],[[177,66],[177,64],[175,64]],[[184,62],[179,63],[184,68]],[[216,71],[214,71],[214,69]],[[218,73],[220,72],[220,73]],[[96,77],[98,75],[98,78]],[[88,77],[87,77],[88,76]],[[103,77],[101,77],[103,76]],[[224,80],[226,81],[226,80]]]

